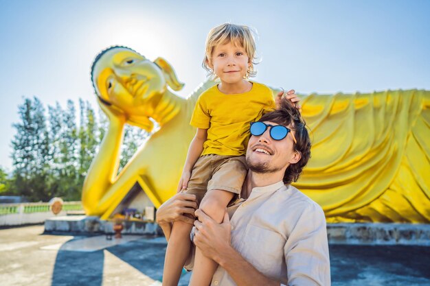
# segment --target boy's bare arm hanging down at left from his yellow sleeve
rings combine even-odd
[[[181,189],[185,189],[188,186],[188,180],[191,177],[192,167],[199,159],[201,153],[203,152],[203,143],[207,139],[207,129],[197,128],[196,134],[190,143],[188,148],[187,159],[185,160],[185,165],[183,166],[181,180],[178,185],[178,192]]]

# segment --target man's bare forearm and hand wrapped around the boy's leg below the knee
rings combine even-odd
[[[217,224],[200,209],[196,211],[196,216],[199,217],[199,221],[194,222],[196,226],[194,244],[206,257],[223,267],[238,286],[280,286],[280,282],[264,276],[231,246],[230,221],[227,212],[221,224]]]

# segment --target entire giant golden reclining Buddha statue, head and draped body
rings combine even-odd
[[[136,182],[160,206],[176,192],[196,99],[214,82],[179,97],[166,60],[127,47],[102,51],[91,80],[109,128],[84,182],[84,210],[111,217]],[[429,107],[430,92],[417,90],[303,97],[313,147],[295,186],[328,222],[430,222]],[[159,129],[117,174],[124,124],[152,132],[154,121]]]

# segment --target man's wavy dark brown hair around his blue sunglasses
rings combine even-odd
[[[310,158],[310,137],[306,128],[306,122],[299,110],[288,100],[283,99],[278,109],[266,113],[259,121],[271,121],[282,126],[291,124],[291,130],[295,131],[295,139],[297,140],[297,143],[293,147],[295,152],[300,152],[302,157],[297,163],[291,164],[286,168],[284,184],[291,184],[291,182],[297,181]]]

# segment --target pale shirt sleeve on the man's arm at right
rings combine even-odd
[[[288,286],[330,285],[326,217],[317,204],[308,206],[284,246]]]

